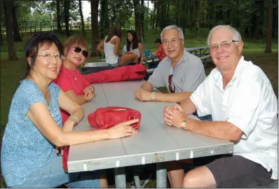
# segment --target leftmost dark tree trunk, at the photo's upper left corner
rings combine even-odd
[[[8,44],[8,59],[18,60],[18,56],[15,52],[15,42],[13,40],[13,26],[12,26],[12,11],[11,8],[13,4],[9,0],[4,1],[4,13],[5,13],[5,26],[6,26],[6,36]]]

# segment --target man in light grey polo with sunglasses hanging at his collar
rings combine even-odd
[[[205,80],[203,63],[193,54],[184,50],[182,29],[171,25],[161,32],[163,50],[167,55],[154,73],[135,91],[139,100],[158,100],[179,103]],[[170,93],[151,92],[154,87],[167,86]]]

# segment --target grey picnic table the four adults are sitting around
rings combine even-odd
[[[121,139],[105,139],[69,148],[68,171],[83,172],[114,168],[116,188],[125,188],[125,167],[156,163],[157,188],[167,187],[165,162],[232,153],[233,143],[167,126],[163,109],[173,103],[141,102],[134,91],[144,80],[94,84],[96,97],[82,105],[85,117],[74,130],[93,129],[88,114],[99,107],[122,106],[137,109],[142,114],[137,135]],[[194,116],[192,116],[194,118]]]

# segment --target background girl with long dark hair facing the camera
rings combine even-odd
[[[123,47],[123,54],[137,54],[137,63],[144,62],[144,47],[137,40],[137,33],[133,30],[127,31],[127,44]]]

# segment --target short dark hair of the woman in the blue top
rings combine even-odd
[[[25,77],[30,74],[30,71],[34,68],[34,62],[38,56],[39,47],[43,45],[55,44],[58,48],[60,55],[64,55],[64,48],[61,41],[57,38],[55,33],[35,33],[33,38],[29,39],[25,44],[25,57],[31,57],[31,63],[27,61],[27,70]]]

